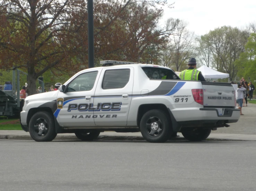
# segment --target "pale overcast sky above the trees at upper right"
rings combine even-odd
[[[208,33],[224,25],[245,28],[256,22],[256,0],[167,0],[174,8],[164,8],[164,17],[189,22],[188,29],[197,35]]]

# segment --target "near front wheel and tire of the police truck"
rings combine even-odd
[[[32,139],[37,142],[52,141],[57,135],[53,115],[46,111],[35,113],[29,121],[28,129]]]

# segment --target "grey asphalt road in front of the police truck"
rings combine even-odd
[[[255,191],[256,141],[0,140],[1,191]]]

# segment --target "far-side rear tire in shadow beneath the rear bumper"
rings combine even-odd
[[[189,141],[203,141],[209,137],[211,131],[211,129],[196,129],[192,131],[184,131],[182,132],[182,135]]]

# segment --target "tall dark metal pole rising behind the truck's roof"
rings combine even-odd
[[[88,62],[94,68],[93,0],[87,0],[88,14]]]

